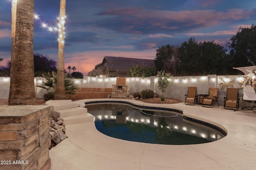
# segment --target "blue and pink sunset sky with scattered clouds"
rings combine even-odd
[[[11,55],[11,0],[0,0],[0,66]],[[59,0],[35,0],[34,53],[58,59]],[[240,26],[256,24],[255,0],[66,0],[65,68],[84,75],[104,56],[154,59],[161,45],[225,45]]]

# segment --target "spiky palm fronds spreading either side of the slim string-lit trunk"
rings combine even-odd
[[[54,94],[57,82],[57,73],[56,72],[44,72],[42,76],[45,78],[45,81],[40,85],[36,85],[37,87],[44,88],[48,93]],[[65,73],[65,94],[70,96],[77,93],[76,90],[79,89],[78,84],[76,84],[74,77],[72,77],[67,72]]]

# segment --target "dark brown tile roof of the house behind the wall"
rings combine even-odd
[[[105,64],[106,68],[110,70],[116,70],[116,72],[127,72],[130,67],[136,64],[144,63],[145,66],[155,67],[154,60],[150,59],[134,59],[134,58],[125,58],[125,57],[104,57],[102,63],[107,61],[108,64]]]

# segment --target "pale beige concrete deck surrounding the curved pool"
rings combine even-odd
[[[106,100],[106,99],[102,99]],[[81,100],[79,102],[93,101]],[[180,109],[184,115],[224,129],[226,137],[197,145],[157,145],[124,141],[100,133],[94,122],[66,125],[67,139],[49,152],[51,170],[254,170],[256,113],[179,104],[136,104]]]

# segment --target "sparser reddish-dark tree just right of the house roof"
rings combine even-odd
[[[154,59],[156,71],[164,70],[176,76],[176,68],[180,64],[178,54],[178,45],[170,46],[168,44],[156,49],[156,58]]]

